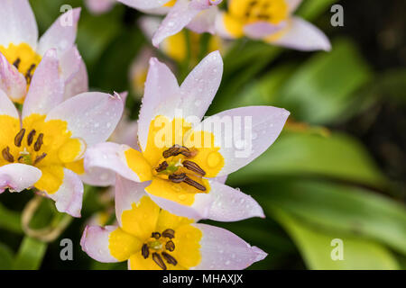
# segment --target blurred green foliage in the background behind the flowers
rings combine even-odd
[[[321,18],[329,19],[329,7],[335,2],[305,0],[299,14],[322,22]],[[62,4],[83,7],[79,0],[31,4],[41,32],[60,15]],[[92,90],[130,90],[131,62],[143,45],[151,46],[136,23],[139,16],[123,5],[99,16],[82,9],[77,42]],[[327,26],[325,20],[321,29],[328,30]],[[340,35],[332,42],[330,53],[300,53],[243,39],[235,40],[224,55],[223,83],[209,114],[246,105],[276,105],[291,112],[291,121],[272,148],[227,180],[253,195],[267,219],[207,221],[269,253],[251,269],[406,267],[406,210],[404,202],[393,197],[401,195],[401,186],[387,176],[360,139],[338,129],[380,101],[404,107],[406,70],[376,72],[355,40]],[[191,68],[172,64],[179,68],[180,80]],[[136,119],[139,100],[133,94],[127,108]],[[60,239],[47,245],[23,236],[20,211],[32,194],[19,198],[4,193],[0,268],[125,269],[125,264],[99,264],[79,247],[88,217],[105,208],[100,192],[87,188],[82,219],[74,220],[60,236],[74,242],[72,262],[60,260]],[[32,225],[46,226],[59,217],[49,206],[42,203]],[[344,241],[342,261],[330,257],[334,238]]]

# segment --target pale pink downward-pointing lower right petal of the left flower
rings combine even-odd
[[[76,173],[63,169],[63,183],[56,193],[48,194],[55,201],[58,211],[68,213],[73,217],[80,217],[83,201],[83,183]]]

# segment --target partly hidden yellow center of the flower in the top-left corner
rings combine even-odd
[[[7,48],[0,45],[0,52],[25,76],[27,84],[30,85],[35,68],[41,62],[41,56],[27,43],[19,45],[11,43]]]

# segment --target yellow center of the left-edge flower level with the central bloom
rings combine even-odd
[[[32,114],[23,121],[0,116],[0,166],[22,163],[42,170],[42,178],[35,187],[46,193],[55,193],[63,182],[63,168],[83,173],[81,157],[86,144],[70,138],[66,121],[45,121],[45,116]]]

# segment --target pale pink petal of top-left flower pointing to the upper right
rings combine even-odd
[[[42,35],[38,44],[38,52],[41,55],[51,48],[57,49],[58,55],[62,55],[73,46],[78,30],[80,10],[81,8],[75,8],[60,15],[50,29]]]

